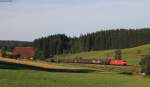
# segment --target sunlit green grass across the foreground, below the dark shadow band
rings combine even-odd
[[[116,73],[0,69],[0,87],[150,87],[150,78]]]

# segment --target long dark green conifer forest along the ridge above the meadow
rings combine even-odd
[[[106,49],[122,49],[150,43],[150,28],[103,30],[68,37],[65,34],[50,35],[34,40],[36,52],[42,58],[63,53],[77,53]]]

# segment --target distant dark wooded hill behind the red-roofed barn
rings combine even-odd
[[[32,42],[28,41],[13,41],[13,40],[0,40],[0,49],[12,50],[14,47],[32,46]]]

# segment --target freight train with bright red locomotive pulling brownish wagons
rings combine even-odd
[[[81,63],[81,64],[101,64],[101,65],[127,65],[126,60],[120,59],[116,60],[113,58],[103,58],[103,59],[50,59],[50,62],[57,63]]]

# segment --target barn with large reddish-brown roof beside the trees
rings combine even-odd
[[[16,47],[13,50],[13,54],[19,55],[20,58],[33,58],[35,55],[35,50],[33,47]]]

